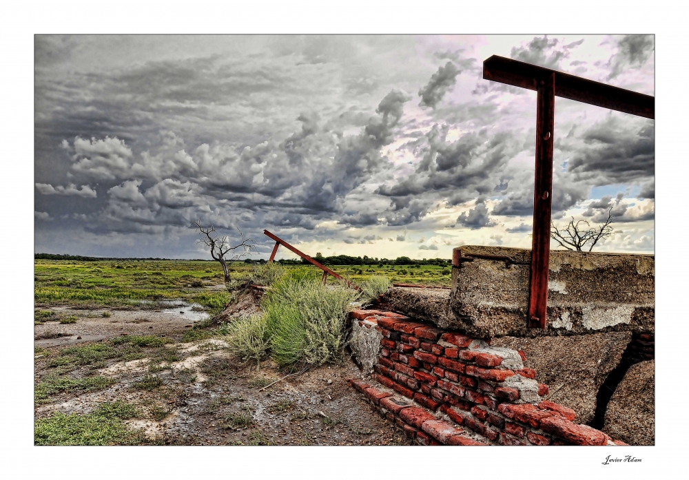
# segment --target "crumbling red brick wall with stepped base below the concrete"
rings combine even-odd
[[[502,357],[470,350],[471,337],[388,311],[356,310],[350,317],[382,334],[371,381],[350,384],[420,444],[621,444],[573,423],[570,408],[520,401],[520,391],[503,382],[513,375],[534,379],[535,371],[502,368]],[[548,386],[538,384],[538,395],[547,394]]]

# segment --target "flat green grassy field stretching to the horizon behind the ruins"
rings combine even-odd
[[[287,265],[320,278],[322,272],[311,265]],[[331,267],[354,282],[371,275],[387,276],[391,282],[424,285],[450,285],[449,267],[437,265],[363,265]],[[233,282],[247,278],[251,265],[235,263],[230,267]],[[34,261],[34,300],[37,305],[63,304],[97,308],[98,306],[134,306],[141,301],[181,299],[197,302],[211,310],[221,309],[232,298],[219,289],[223,284],[220,265],[199,260],[73,260]],[[208,287],[215,288],[209,289]]]

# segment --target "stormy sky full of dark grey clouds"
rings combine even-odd
[[[535,92],[493,54],[655,94],[653,36],[36,36],[34,251],[207,258],[531,247]],[[553,218],[652,253],[655,122],[555,102]],[[556,247],[551,244],[551,248]],[[278,258],[294,258],[284,249]]]

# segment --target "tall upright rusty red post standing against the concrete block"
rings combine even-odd
[[[546,328],[553,200],[555,72],[537,79],[536,91],[536,172],[533,185],[533,241],[531,243],[528,325]]]

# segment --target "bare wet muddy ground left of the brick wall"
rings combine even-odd
[[[41,310],[47,309],[41,306]],[[102,390],[63,392],[42,400],[44,403],[39,401],[34,409],[37,419],[55,412],[87,414],[103,402],[119,400],[138,408],[137,418],[125,423],[154,444],[411,444],[347,385],[345,379],[360,375],[351,359],[340,366],[314,367],[303,373],[281,370],[270,361],[257,367],[255,362],[233,357],[221,336],[183,342],[194,324],[183,309],[176,314],[167,310],[108,311],[110,317],[102,316],[103,309],[52,310],[77,315],[79,320],[35,326],[34,382],[60,374],[73,379],[106,377],[114,383]],[[41,338],[54,333],[65,336]],[[138,348],[136,359],[120,355],[101,364],[56,366],[65,349],[75,344],[105,344],[134,335],[165,335],[174,343]],[[81,340],[76,340],[79,336]],[[298,375],[282,379],[289,373]]]

